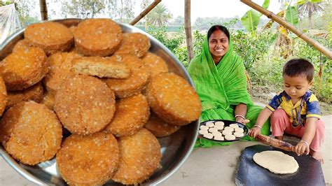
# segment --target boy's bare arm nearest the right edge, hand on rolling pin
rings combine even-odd
[[[298,155],[309,154],[310,144],[316,132],[317,121],[318,119],[316,117],[307,117],[304,134],[301,141],[295,146],[295,151]]]

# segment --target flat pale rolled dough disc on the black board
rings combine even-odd
[[[272,173],[295,173],[298,170],[298,162],[293,157],[277,150],[256,153],[253,159],[256,164],[263,166]]]

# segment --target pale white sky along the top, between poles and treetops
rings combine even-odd
[[[258,5],[263,4],[263,0],[253,0]],[[173,18],[181,15],[184,17],[184,0],[162,0]],[[136,1],[134,10],[135,16],[139,15],[139,6],[141,0]],[[191,0],[191,22],[197,17],[242,17],[251,7],[242,3],[240,0]],[[270,0],[268,10],[277,14],[280,10],[280,4],[277,0]]]

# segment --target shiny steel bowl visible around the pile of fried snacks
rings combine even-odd
[[[52,22],[60,22],[67,27],[76,26],[81,19],[65,19],[65,20],[51,20]],[[176,73],[177,75],[185,78],[188,83],[193,86],[193,82],[186,72],[184,66],[179,62],[179,59],[175,57],[170,50],[168,50],[165,45],[162,45],[157,39],[153,38],[150,34],[133,27],[129,24],[120,24],[124,33],[139,32],[146,34],[151,41],[151,48],[149,52],[153,52],[155,55],[160,56],[165,60],[170,72]],[[0,45],[0,60],[4,59],[8,54],[11,53],[15,43],[24,38],[25,29],[21,29],[15,34],[6,38],[4,43]],[[199,121],[191,122],[186,126],[181,127],[176,133],[158,138],[161,146],[162,158],[159,168],[151,175],[148,180],[144,181],[144,185],[157,185],[162,183],[162,181],[170,178],[172,174],[180,168],[182,164],[191,154],[193,146],[195,145],[196,138],[198,137]],[[5,161],[18,171],[20,175],[27,178],[28,180],[36,183],[38,185],[66,185],[64,180],[61,178],[60,173],[57,169],[57,163],[55,157],[48,160],[47,162],[42,162],[35,166],[28,166],[22,164],[8,155],[6,150],[0,145],[0,155],[5,159]],[[107,185],[120,185],[112,180],[109,180]]]

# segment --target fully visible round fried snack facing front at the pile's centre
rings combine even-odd
[[[73,134],[92,134],[111,122],[116,101],[113,91],[102,80],[74,76],[64,81],[55,95],[55,112]]]

